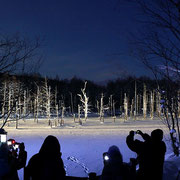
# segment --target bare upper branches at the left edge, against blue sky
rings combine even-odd
[[[40,38],[32,41],[20,34],[11,36],[1,34],[0,72],[14,73],[37,69],[40,65],[40,58],[37,60],[39,47]]]

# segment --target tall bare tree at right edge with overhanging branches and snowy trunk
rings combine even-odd
[[[178,91],[180,89],[180,1],[129,0],[141,10],[140,33],[133,35],[133,55],[154,74],[157,83],[165,79],[164,87],[157,88],[161,95],[164,120],[170,131],[173,151],[179,155],[180,130],[178,119]],[[143,15],[144,16],[143,16]],[[157,95],[157,93],[156,93]],[[160,97],[160,96],[159,96]],[[158,98],[156,97],[156,100]],[[156,102],[158,106],[158,103]]]

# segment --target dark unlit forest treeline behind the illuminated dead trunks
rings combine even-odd
[[[11,81],[19,81],[23,84],[23,89],[30,91],[33,95],[37,91],[37,86],[43,86],[45,78],[39,74],[33,75],[1,75],[1,89],[2,83],[8,79]],[[51,87],[52,93],[57,92],[57,102],[62,102],[66,107],[70,107],[73,101],[74,112],[77,112],[77,106],[80,103],[78,94],[81,94],[81,89],[84,87],[85,80],[73,77],[72,79],[59,79],[47,78],[47,84]],[[165,80],[157,81],[149,77],[126,77],[118,78],[116,80],[109,81],[106,85],[99,85],[93,81],[87,80],[86,94],[89,97],[90,109],[97,111],[97,101],[100,101],[101,95],[104,95],[104,104],[109,103],[109,98],[112,96],[116,109],[123,106],[124,93],[127,94],[129,101],[134,98],[135,83],[137,94],[143,95],[143,86],[146,85],[147,92],[156,90],[158,85],[162,88],[165,84]]]

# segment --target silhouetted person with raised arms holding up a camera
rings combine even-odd
[[[144,142],[134,140],[134,131],[130,131],[126,138],[128,147],[138,155],[137,180],[162,180],[166,152],[166,145],[162,141],[163,131],[156,129],[152,131],[151,136],[142,133],[140,130],[137,133],[142,136]]]

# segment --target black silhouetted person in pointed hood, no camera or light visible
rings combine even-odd
[[[25,168],[25,179],[30,179],[30,177],[32,180],[65,179],[60,144],[56,137],[47,136],[39,153],[29,160]]]

